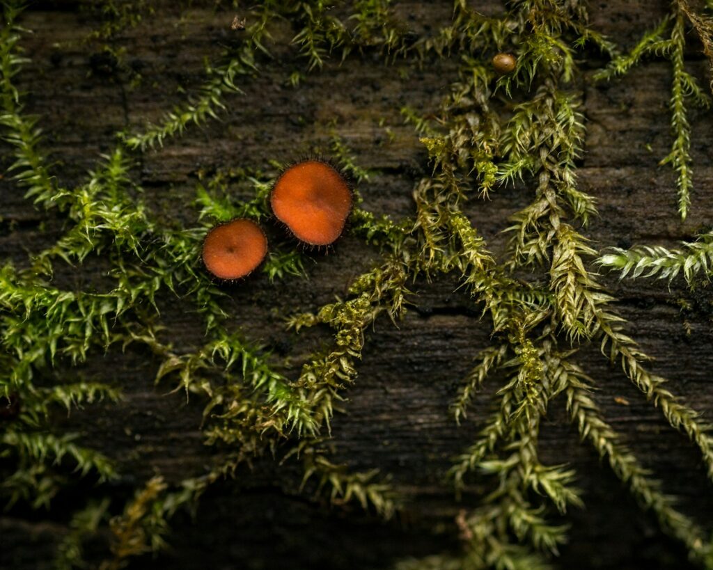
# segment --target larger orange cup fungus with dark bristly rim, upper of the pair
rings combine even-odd
[[[304,160],[277,179],[270,205],[301,242],[329,245],[342,234],[352,209],[352,191],[327,162]]]

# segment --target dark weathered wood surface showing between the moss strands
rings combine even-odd
[[[117,131],[138,132],[183,103],[205,81],[205,61],[240,38],[230,28],[240,9],[215,9],[211,2],[198,1],[150,4],[153,13],[106,40],[84,40],[101,25],[98,11],[87,2],[30,2],[22,16],[21,25],[33,31],[21,41],[31,63],[15,81],[25,94],[26,113],[39,117],[43,151],[63,187],[81,184],[99,155],[111,152]],[[501,11],[492,0],[470,4],[486,14]],[[414,38],[447,22],[452,9],[446,0],[395,4]],[[590,24],[627,49],[666,10],[663,1],[591,1]],[[414,214],[414,185],[429,175],[431,165],[401,108],[436,113],[456,81],[458,56],[426,58],[416,66],[399,59],[384,65],[369,51],[339,63],[335,54],[322,71],[307,74],[294,87],[290,74],[304,69],[290,43],[296,30],[280,20],[270,24],[270,33],[265,46],[272,59],[259,61],[254,77],[240,77],[244,93],[227,95],[220,120],[190,125],[163,148],[136,153],[130,176],[143,187],[150,211],[177,227],[193,227],[195,187],[203,177],[240,167],[274,177],[279,174],[276,162],[329,155],[337,135],[354,162],[371,173],[357,185],[361,206],[396,219]],[[593,53],[591,61],[597,57]],[[692,49],[687,58],[689,70],[707,78],[700,49]],[[585,236],[597,251],[640,243],[674,247],[694,239],[713,219],[712,113],[692,110],[689,118],[694,190],[690,214],[681,222],[675,175],[658,165],[671,145],[670,66],[647,61],[620,80],[595,85],[591,61],[580,83],[586,140],[578,177],[580,187],[597,200],[599,215],[583,230]],[[12,162],[10,146],[2,143],[2,170]],[[240,192],[250,197],[249,189],[236,192],[238,199]],[[466,212],[493,252],[501,254],[508,217],[532,199],[533,187],[525,181],[498,187],[487,201],[469,202]],[[282,231],[276,222],[266,225],[269,239]],[[10,175],[0,179],[0,259],[26,266],[28,254],[51,246],[65,228],[62,214],[25,199]],[[296,335],[285,329],[285,318],[344,298],[352,279],[378,259],[375,248],[347,231],[328,252],[308,252],[307,279],[270,283],[265,274],[255,274],[225,289],[221,306],[249,338],[286,361],[287,375],[295,377],[309,355],[329,343],[330,333],[318,327]],[[56,264],[52,283],[61,289],[105,291],[111,286],[108,269],[105,257],[90,254],[81,265]],[[606,271],[602,281],[619,299],[617,309],[629,321],[627,333],[655,357],[652,371],[711,418],[713,291],[692,292],[681,279],[670,286],[666,281],[619,281]],[[330,505],[311,482],[301,488],[297,462],[277,465],[266,456],[252,467],[240,467],[235,478],[213,484],[193,516],[179,512],[166,538],[170,546],[158,559],[139,556],[128,568],[377,570],[409,556],[458,551],[458,512],[476,504],[484,489],[468,484],[456,499],[446,472],[483,427],[503,378],[488,378],[466,420],[456,425],[449,406],[473,357],[488,346],[490,328],[480,318],[482,307],[454,279],[419,279],[409,289],[414,305],[404,321],[396,327],[380,316],[367,331],[358,378],[340,403],[344,413],[332,420],[329,441],[334,462],[353,470],[378,469],[390,478],[404,497],[394,519],[384,522],[358,504]],[[176,351],[201,345],[203,325],[193,305],[168,294],[158,305],[164,333]],[[585,348],[580,362],[600,388],[594,398],[611,425],[660,477],[665,492],[677,497],[682,512],[712,532],[713,492],[694,445],[672,430],[619,363],[610,363],[596,346]],[[59,411],[54,418],[62,430],[81,434],[86,445],[116,462],[120,477],[111,482],[111,492],[119,500],[156,474],[169,484],[202,475],[220,453],[203,442],[205,402],[187,399],[183,390],[171,392],[169,382],[155,384],[159,366],[148,348],[132,344],[125,350],[112,346],[106,354],[94,351],[76,368],[58,368],[78,380],[123,390],[118,403],[86,405],[69,415]],[[555,567],[689,567],[682,546],[637,506],[597,452],[580,444],[565,395],[550,403],[538,445],[543,462],[576,470],[585,502],[562,517],[571,525],[570,539],[553,559]],[[78,480],[49,510],[18,504],[0,514],[0,568],[52,568],[53,549],[68,532],[71,509],[96,493],[91,480]],[[91,560],[93,545],[86,551]]]

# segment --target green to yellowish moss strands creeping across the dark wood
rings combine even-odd
[[[127,25],[138,22],[132,19],[130,6],[126,14],[117,15],[119,21],[128,18]],[[116,475],[106,457],[80,445],[75,435],[53,433],[50,410],[91,405],[100,398],[116,400],[120,392],[54,376],[51,387],[43,388],[36,380],[56,363],[73,365],[113,344],[139,343],[160,360],[157,381],[171,383],[205,403],[205,443],[220,447],[224,455],[207,475],[188,477],[178,486],[169,486],[158,476],[146,482],[123,506],[123,514],[113,519],[106,501],[78,509],[58,550],[59,567],[81,566],[83,541],[101,529],[109,529],[113,537],[111,556],[103,567],[120,568],[131,556],[158,551],[170,536],[168,520],[177,509],[195,508],[210,484],[267,454],[281,461],[301,461],[306,487],[314,481],[314,492],[327,494],[334,504],[356,501],[389,517],[399,507],[399,497],[386,478],[335,465],[325,442],[344,392],[356,379],[361,355],[369,348],[366,330],[382,315],[394,322],[403,318],[407,306],[416,302],[408,289],[414,279],[453,274],[483,310],[492,336],[492,345],[481,351],[453,402],[455,420],[468,413],[481,385],[496,371],[506,381],[493,400],[493,414],[476,441],[464,442],[449,477],[454,489],[463,492],[477,472],[489,482],[488,493],[459,519],[461,554],[404,561],[399,567],[548,567],[568,531],[552,521],[582,504],[576,473],[565,465],[545,465],[538,457],[541,420],[560,395],[582,439],[642,508],[686,546],[692,560],[713,567],[712,546],[702,527],[677,511],[660,483],[620,442],[591,397],[596,380],[577,359],[582,346],[594,343],[612,361],[619,361],[668,423],[697,446],[713,479],[709,425],[670,392],[664,378],[643,366],[647,356],[625,333],[615,299],[590,269],[596,252],[581,232],[597,212],[593,197],[578,188],[576,164],[585,135],[578,62],[589,55],[586,49],[612,58],[600,78],[625,73],[644,56],[662,53],[674,71],[675,141],[667,160],[679,175],[679,209],[685,215],[691,185],[685,105],[687,100],[707,104],[708,95],[683,68],[683,26],[687,19],[707,46],[709,16],[675,0],[672,15],[646,33],[630,54],[620,56],[610,41],[588,26],[583,3],[572,0],[513,1],[492,18],[456,1],[451,22],[419,41],[405,31],[387,0],[356,0],[339,16],[330,8],[331,3],[323,0],[272,0],[251,9],[244,40],[208,66],[205,84],[185,105],[141,133],[120,133],[116,149],[98,160],[88,180],[64,189],[56,184],[39,150],[38,120],[23,113],[14,83],[26,63],[19,55],[23,31],[17,20],[22,9],[5,4],[0,123],[14,147],[12,175],[29,199],[58,208],[68,225],[56,244],[29,260],[29,269],[4,264],[0,271],[0,364],[9,371],[0,380],[0,389],[6,398],[23,402],[19,418],[0,440],[0,457],[14,466],[1,492],[9,503],[48,506],[70,480],[93,477],[101,483]],[[195,223],[188,229],[155,217],[143,206],[141,189],[130,177],[140,153],[160,150],[190,125],[215,118],[226,98],[240,94],[237,80],[259,73],[258,62],[267,53],[263,41],[270,22],[279,17],[296,26],[293,43],[302,67],[285,78],[296,88],[299,78],[319,71],[325,58],[334,54],[344,59],[375,52],[386,64],[394,58],[419,63],[496,50],[511,51],[518,58],[513,74],[501,77],[486,56],[458,58],[458,77],[436,118],[421,117],[411,108],[402,110],[421,135],[433,171],[414,188],[413,217],[394,220],[354,209],[352,234],[376,246],[381,259],[354,279],[345,299],[289,319],[295,333],[322,323],[332,328],[334,337],[332,346],[304,363],[297,378],[282,373],[265,347],[230,326],[220,304],[222,292],[199,265],[200,242],[212,223],[270,214],[270,177],[249,168],[217,172],[210,178],[201,175]],[[670,38],[665,38],[669,31]],[[106,33],[114,33],[113,28],[99,31],[100,36]],[[369,177],[336,132],[331,151],[356,182]],[[511,239],[498,259],[463,206],[515,180],[531,189],[532,201],[511,216]],[[232,199],[227,187],[233,183],[250,189],[252,198]],[[89,254],[98,252],[111,264],[108,291],[68,291],[51,285],[58,264],[81,266]],[[646,271],[672,279],[683,274],[689,281],[696,274],[709,274],[710,261],[708,234],[680,250],[616,250],[600,258],[600,264],[620,269],[622,275],[636,277]],[[303,264],[304,255],[285,243],[272,252],[263,270],[271,280],[291,279],[303,274]],[[520,280],[523,270],[532,279]],[[155,301],[167,294],[195,306],[205,326],[203,346],[183,352],[161,340]]]

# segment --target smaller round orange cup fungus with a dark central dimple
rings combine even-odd
[[[250,219],[217,225],[203,240],[205,268],[217,279],[232,281],[250,274],[267,254],[267,238]]]

